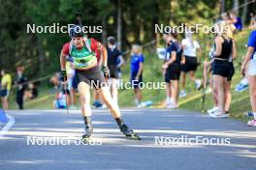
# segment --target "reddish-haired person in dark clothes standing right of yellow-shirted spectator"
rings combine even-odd
[[[23,75],[23,72],[23,67],[16,68],[16,103],[18,105],[18,109],[23,109],[23,96],[26,87],[25,82],[27,81],[27,78]]]

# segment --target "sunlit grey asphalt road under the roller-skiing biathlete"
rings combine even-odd
[[[7,113],[16,122],[0,137],[1,170],[256,169],[256,128],[229,118],[182,110],[122,109],[126,124],[143,138],[135,141],[119,132],[108,110],[93,110],[93,138],[82,145],[79,110],[69,115],[65,110]]]

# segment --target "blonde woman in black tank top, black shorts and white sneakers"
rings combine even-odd
[[[236,57],[237,49],[235,41],[228,33],[228,25],[224,21],[217,22],[214,29],[217,35],[214,39],[213,59],[206,65],[207,67],[212,65],[213,93],[217,108],[209,116],[223,118],[228,116],[231,100],[230,84],[234,74],[232,59]]]

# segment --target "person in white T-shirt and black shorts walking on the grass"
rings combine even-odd
[[[189,72],[190,80],[195,82],[196,89],[200,89],[201,80],[195,77],[195,71],[198,67],[197,52],[199,56],[202,54],[202,49],[199,42],[193,40],[192,34],[186,32],[185,39],[181,42],[183,55],[185,56],[185,63],[181,64],[181,92],[179,94],[180,98],[186,96],[185,84],[186,84],[186,74]]]

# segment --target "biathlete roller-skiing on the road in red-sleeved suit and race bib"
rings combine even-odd
[[[70,29],[71,42],[66,42],[63,45],[60,54],[60,66],[61,66],[61,79],[64,83],[67,83],[67,72],[65,68],[66,55],[70,55],[74,59],[76,67],[76,78],[78,81],[78,90],[80,94],[81,114],[83,116],[85,131],[82,135],[82,139],[87,140],[93,131],[91,124],[91,108],[90,108],[90,87],[96,89],[105,101],[112,117],[115,119],[120,131],[125,134],[126,137],[133,139],[140,139],[140,137],[133,132],[131,128],[128,128],[121,117],[120,110],[117,105],[113,104],[112,96],[108,85],[106,84],[104,76],[109,75],[107,67],[107,50],[100,42],[94,39],[86,39],[82,33],[82,29],[79,25],[75,25]],[[101,48],[103,54],[102,71],[97,62],[95,51]]]

